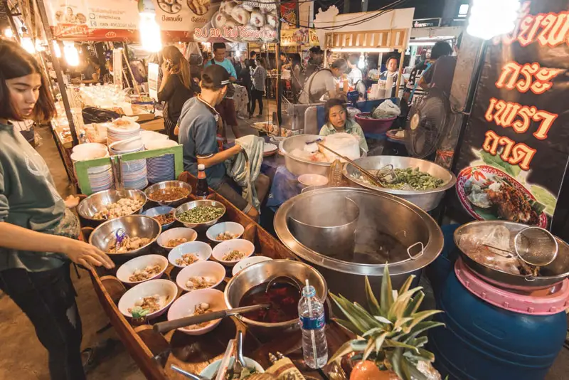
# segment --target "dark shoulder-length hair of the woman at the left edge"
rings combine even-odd
[[[24,119],[11,102],[10,90],[6,85],[6,80],[31,74],[40,75],[41,88],[39,89],[38,100],[29,118],[38,122],[46,122],[55,116],[55,104],[38,61],[30,53],[23,50],[18,43],[0,41],[0,117],[14,121]]]

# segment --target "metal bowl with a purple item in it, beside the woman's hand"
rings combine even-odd
[[[124,229],[130,238],[149,238],[150,243],[128,253],[113,253],[109,248],[115,243],[115,236],[119,229]],[[160,235],[162,228],[156,219],[144,215],[129,215],[112,219],[95,228],[89,237],[89,243],[108,255],[131,257],[149,253],[152,243]]]

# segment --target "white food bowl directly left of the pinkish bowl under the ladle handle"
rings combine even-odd
[[[176,295],[178,295],[178,286],[170,280],[162,279],[149,280],[144,283],[140,283],[127,290],[127,292],[120,297],[118,305],[119,311],[125,317],[132,318],[132,314],[130,314],[128,309],[134,307],[135,302],[138,300],[142,300],[144,297],[151,297],[152,295],[159,295],[160,302],[164,306],[162,306],[160,310],[148,314],[146,317],[149,320],[159,317],[168,310],[170,305],[172,305],[172,302],[176,300]]]

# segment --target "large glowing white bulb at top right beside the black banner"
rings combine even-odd
[[[489,40],[514,30],[519,0],[474,0],[470,9],[467,33]]]

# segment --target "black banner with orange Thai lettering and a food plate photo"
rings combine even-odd
[[[526,1],[516,29],[487,42],[456,167],[470,218],[551,225],[569,159],[567,6]]]

